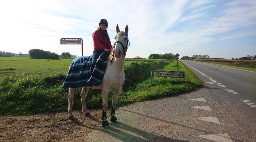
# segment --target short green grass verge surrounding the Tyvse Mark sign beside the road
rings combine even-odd
[[[170,62],[162,70],[184,71],[186,81],[182,78],[153,77],[151,82],[151,78],[148,78],[137,84],[132,90],[122,92],[119,99],[125,102],[140,102],[190,92],[202,86],[202,82],[184,64],[179,61],[178,67],[176,65],[177,62]],[[118,105],[121,103],[118,102]]]

